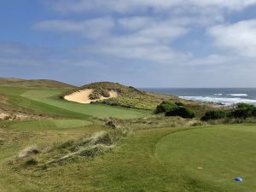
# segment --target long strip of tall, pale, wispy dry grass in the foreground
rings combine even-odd
[[[119,127],[118,129],[95,132],[90,137],[54,143],[41,150],[37,146],[26,147],[9,164],[15,167],[34,166],[31,168],[46,169],[48,166],[59,166],[63,162],[70,162],[79,157],[94,158],[113,149],[128,132],[129,128]]]

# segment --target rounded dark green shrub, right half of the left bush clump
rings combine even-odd
[[[185,119],[193,119],[195,118],[195,112],[191,108],[177,106],[176,108],[168,110],[166,116],[180,116]]]

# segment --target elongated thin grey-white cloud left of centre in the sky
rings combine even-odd
[[[45,20],[32,28],[45,32],[68,32],[79,33],[85,38],[102,38],[108,36],[113,29],[114,22],[109,17],[96,18],[91,20]]]

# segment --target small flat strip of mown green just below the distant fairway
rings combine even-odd
[[[7,127],[16,130],[55,130],[69,129],[90,125],[88,120],[80,119],[47,119],[47,120],[28,120],[7,123]]]

